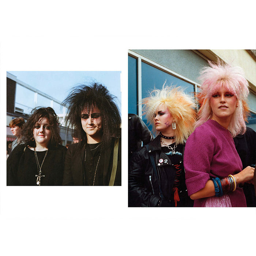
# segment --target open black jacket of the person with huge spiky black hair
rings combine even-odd
[[[104,151],[104,167],[103,186],[109,185],[109,180],[112,172],[113,165],[113,151],[114,151],[115,138],[112,138],[111,144]],[[81,141],[79,143],[71,144],[68,147],[68,151],[65,158],[65,167],[63,175],[62,185],[84,185],[84,153],[85,153],[86,142]],[[114,181],[114,186],[121,186],[121,139],[119,139],[118,146],[118,161],[117,161],[117,172]]]

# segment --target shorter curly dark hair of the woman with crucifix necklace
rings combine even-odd
[[[60,123],[59,117],[56,115],[54,110],[50,107],[37,107],[31,111],[31,116],[27,122],[23,125],[21,133],[23,142],[30,147],[35,147],[35,141],[31,140],[33,137],[33,130],[35,124],[41,119],[47,118],[50,125],[50,131],[52,132],[51,139],[48,144],[48,148],[57,147],[61,143],[60,138]]]

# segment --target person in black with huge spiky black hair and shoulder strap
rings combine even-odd
[[[68,147],[63,185],[121,185],[121,117],[102,84],[81,85],[64,100],[78,143]]]

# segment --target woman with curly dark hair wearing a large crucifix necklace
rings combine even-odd
[[[61,146],[59,117],[35,108],[22,127],[24,144],[7,159],[7,185],[61,185],[67,148]]]

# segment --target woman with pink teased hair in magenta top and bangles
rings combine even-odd
[[[246,207],[240,184],[252,181],[254,168],[242,170],[233,138],[246,131],[249,85],[240,67],[209,64],[201,72],[198,120],[184,152],[188,195],[194,207]]]

